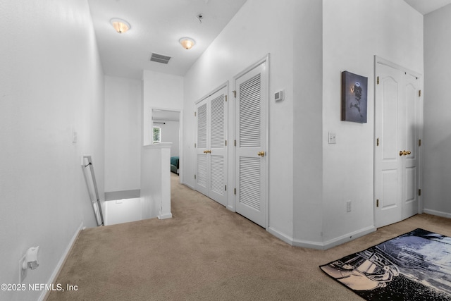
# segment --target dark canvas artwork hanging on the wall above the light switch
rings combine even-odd
[[[368,78],[343,71],[341,94],[341,120],[366,123]]]

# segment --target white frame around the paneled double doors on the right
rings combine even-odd
[[[420,91],[423,91],[424,88],[424,78],[421,73],[417,73],[413,70],[409,70],[408,68],[404,68],[403,66],[398,65],[397,63],[393,63],[392,61],[388,61],[387,59],[383,59],[380,56],[374,56],[374,66],[373,66],[373,106],[374,106],[374,121],[373,121],[373,225],[377,224],[376,221],[376,147],[377,147],[377,137],[376,137],[376,85],[377,85],[377,65],[385,65],[391,68],[395,68],[397,70],[401,70],[404,73],[409,73],[410,75],[413,75],[420,79]],[[418,139],[421,140],[421,142],[424,141],[423,134],[424,134],[424,93],[421,92],[421,95],[419,97],[419,116],[418,116]],[[421,187],[423,186],[423,166],[424,166],[424,144],[418,146],[418,189],[421,190]],[[418,214],[423,213],[423,199],[421,195],[418,195]]]

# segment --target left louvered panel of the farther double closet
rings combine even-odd
[[[208,147],[208,122],[207,122],[207,103],[197,104],[197,135],[196,135],[196,179],[195,188],[197,191],[208,194],[209,174],[208,174],[208,156],[206,150]]]

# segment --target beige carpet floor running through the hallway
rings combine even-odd
[[[421,214],[329,250],[292,247],[171,175],[173,219],[81,231],[47,300],[362,300],[319,265],[451,220]]]

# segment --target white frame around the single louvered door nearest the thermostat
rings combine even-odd
[[[269,53],[266,54],[266,56],[264,56],[263,58],[259,59],[258,61],[256,61],[255,63],[253,63],[251,66],[248,66],[247,68],[245,68],[245,70],[242,70],[240,73],[237,73],[237,75],[233,76],[233,92],[235,92],[237,90],[236,87],[236,82],[237,79],[242,77],[242,75],[245,75],[246,73],[248,73],[250,70],[256,68],[257,66],[260,66],[262,63],[265,63],[265,72],[266,72],[266,112],[265,112],[265,118],[266,118],[266,145],[265,145],[265,149],[266,149],[266,179],[265,179],[265,194],[266,197],[263,200],[264,204],[265,204],[265,208],[266,208],[266,212],[265,212],[265,226],[264,228],[266,229],[266,231],[268,231],[269,228],[269,162],[270,162],[270,149],[269,149]],[[233,140],[236,141],[237,137],[236,137],[236,120],[237,120],[237,116],[236,116],[236,98],[234,97],[235,102],[233,102],[233,104],[231,104],[232,108],[231,111],[233,111]],[[235,170],[235,166],[236,166],[236,162],[237,162],[237,157],[236,157],[236,147],[233,147],[233,183],[234,186],[236,187],[237,184],[237,179],[236,179],[236,170]],[[235,194],[233,194],[233,202],[232,204],[230,204],[230,206],[228,206],[228,209],[230,209],[231,211],[236,212],[236,202],[237,202],[237,197]]]

